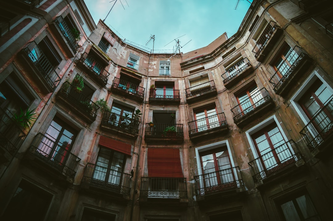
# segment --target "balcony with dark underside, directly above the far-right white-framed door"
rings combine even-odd
[[[299,77],[309,69],[311,64],[312,60],[308,55],[304,53],[297,55],[294,50],[291,51],[269,80],[275,93],[280,96],[287,95],[290,88],[296,84]]]

